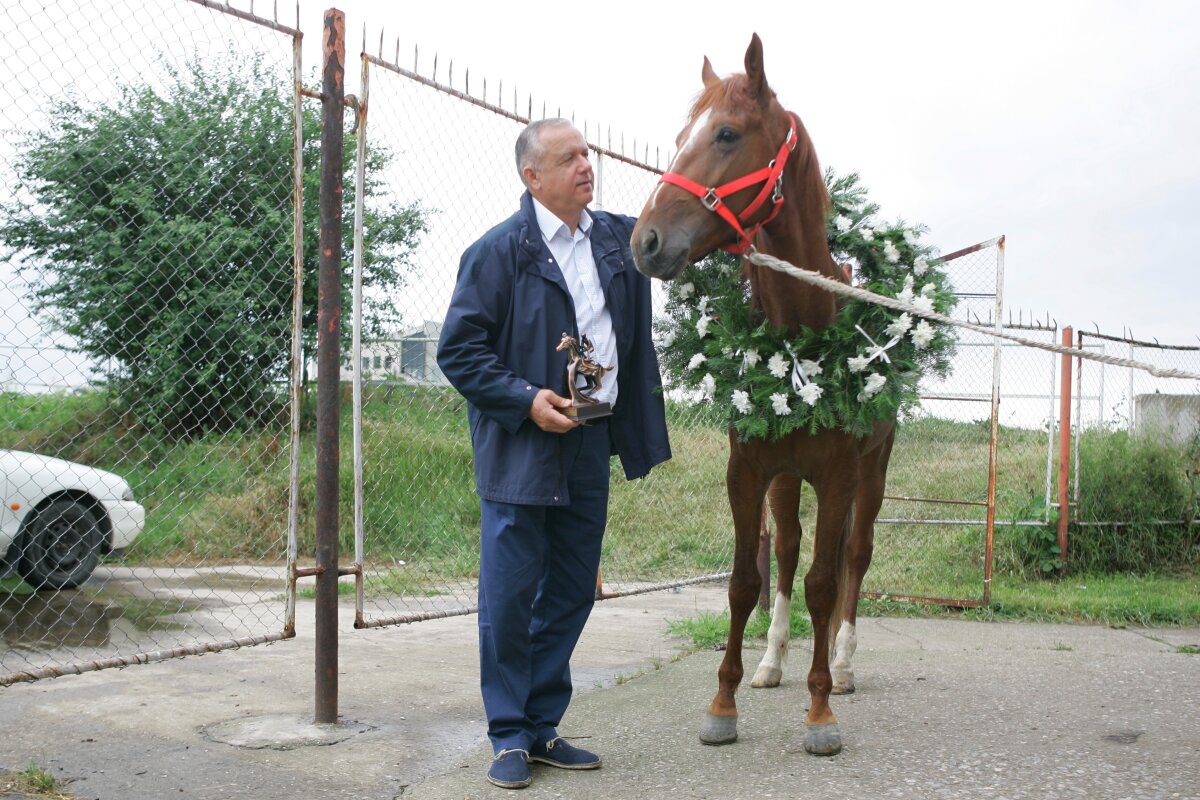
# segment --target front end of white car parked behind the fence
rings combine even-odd
[[[145,524],[125,479],[61,458],[0,450],[0,560],[35,589],[78,587]]]

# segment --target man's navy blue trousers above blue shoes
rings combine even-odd
[[[608,425],[563,435],[570,505],[481,501],[479,672],[494,752],[558,735],[571,700],[571,652],[595,602]]]

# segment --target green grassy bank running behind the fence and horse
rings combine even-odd
[[[445,387],[367,386],[362,409],[365,553],[376,565],[367,572],[367,594],[427,595],[469,583],[479,570],[480,519],[464,402]],[[613,461],[602,552],[608,584],[712,575],[728,570],[732,563],[732,521],[725,491],[727,433],[706,407],[668,403],[667,414],[674,451],[670,462],[646,479],[625,481]],[[348,561],[354,552],[348,393],[341,419],[340,549]],[[901,423],[888,493],[908,499],[884,501],[881,517],[900,524],[876,525],[866,591],[982,599],[983,506],[930,500],[986,499],[989,429],[986,421],[919,415]],[[80,461],[126,477],[146,507],[146,528],[125,554],[126,564],[278,564],[284,559],[290,465],[283,426],[168,441],[130,425],[102,392],[0,393],[0,446]],[[1001,428],[998,521],[1032,522],[1043,528],[1051,522],[1043,497],[1046,447],[1044,431]],[[299,552],[304,559],[313,552],[316,537],[312,431],[302,433],[299,452]],[[1158,475],[1174,462],[1147,458],[1145,463]],[[815,492],[805,488],[800,498],[800,575],[810,559],[815,504]],[[948,516],[958,522],[920,522]],[[1040,570],[1031,572],[1030,564],[1044,560],[1046,542],[1036,539],[1043,528],[997,527],[994,604],[973,613],[988,619],[1152,625],[1189,624],[1200,616],[1188,599],[1189,591],[1192,597],[1200,595],[1194,577],[1038,578]],[[1141,534],[1128,527],[1121,530],[1127,539]],[[1182,565],[1183,575],[1200,575],[1200,547],[1172,552],[1172,563]],[[1076,593],[1070,589],[1075,584],[1090,589]],[[0,589],[22,591],[19,582],[0,584]],[[899,604],[864,604],[866,613],[872,608],[880,613],[930,613],[904,610]]]

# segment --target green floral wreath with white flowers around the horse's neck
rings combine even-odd
[[[824,179],[834,261],[864,289],[948,313],[956,299],[918,241],[925,228],[877,222],[857,173]],[[824,330],[788,336],[750,307],[740,261],[720,252],[668,284],[655,333],[667,389],[712,403],[743,440],[826,428],[865,435],[918,404],[922,374],[949,373],[955,344],[949,325],[857,299],[844,299]]]

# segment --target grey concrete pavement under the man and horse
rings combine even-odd
[[[743,684],[737,744],[698,742],[721,654],[676,658],[667,620],[724,607],[712,585],[598,603],[560,733],[605,765],[535,765],[516,794],[484,781],[473,616],[354,631],[347,613],[341,723],[313,726],[308,606],[290,642],[0,690],[0,768],[36,763],[80,800],[1200,799],[1200,656],[1178,651],[1198,628],[862,619],[845,750],[815,758],[804,642],[781,687]]]

